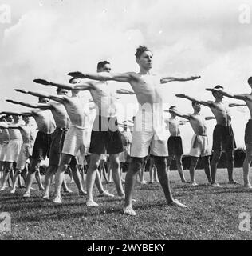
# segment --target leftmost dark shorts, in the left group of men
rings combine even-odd
[[[49,158],[52,135],[53,134],[44,134],[41,131],[37,132],[37,137],[33,146],[33,159],[41,161],[45,160],[46,157]]]

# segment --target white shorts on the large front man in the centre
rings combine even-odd
[[[159,122],[160,121],[160,122]],[[158,114],[136,114],[132,134],[131,157],[144,158],[148,153],[167,157],[168,134]],[[149,152],[150,147],[150,152]]]

